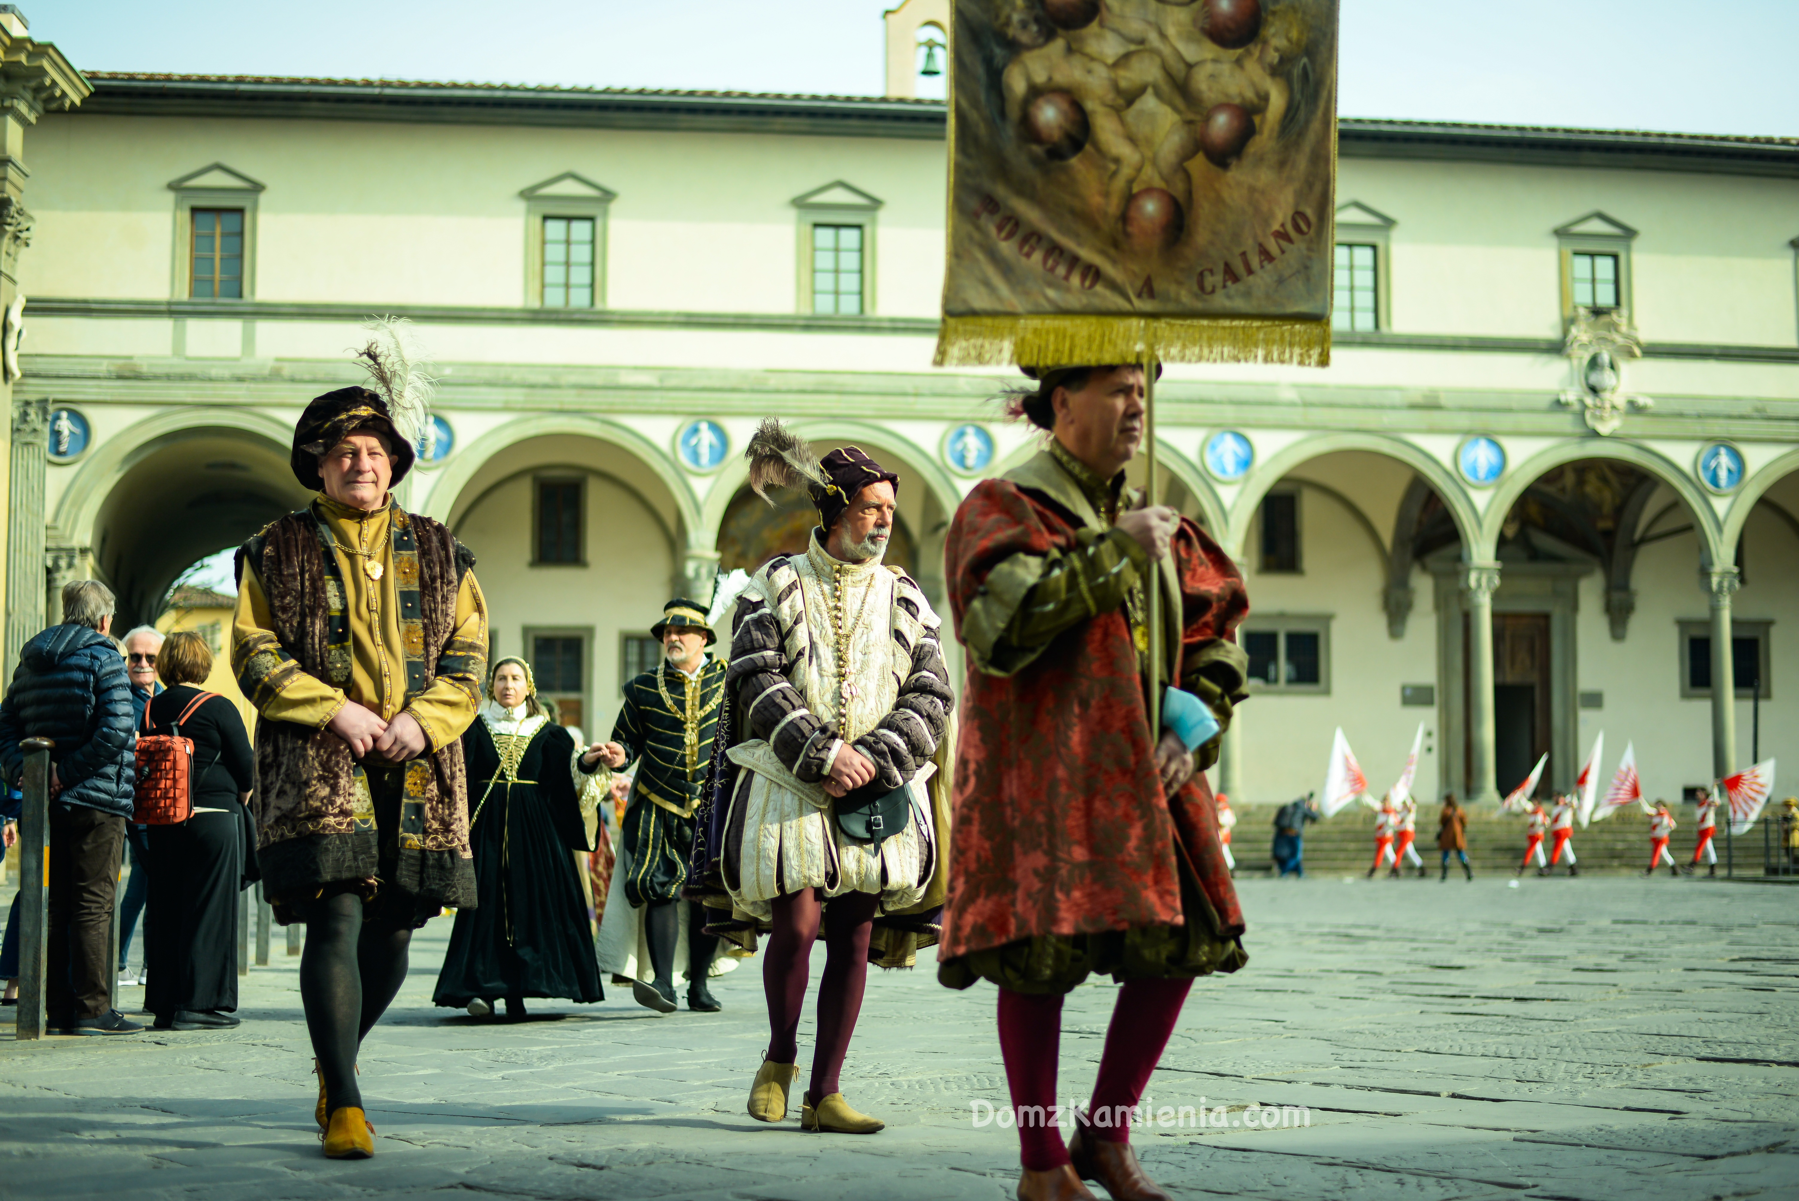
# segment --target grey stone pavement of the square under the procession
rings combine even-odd
[[[1159,1109],[1204,1106],[1209,1125],[1133,1138],[1177,1196],[1799,1196],[1799,890],[1315,877],[1241,892],[1252,962],[1195,987],[1150,1086]],[[977,1102],[1006,1097],[988,987],[874,973],[844,1081],[889,1127],[819,1136],[797,1109],[774,1127],[743,1111],[766,1037],[754,960],[720,982],[723,1014],[658,1018],[612,989],[495,1025],[430,1007],[446,933],[421,935],[363,1046],[374,1160],[318,1154],[297,960],[277,939],[237,1030],[0,1043],[0,1196],[1011,1196],[1013,1133],[973,1124]],[[1070,996],[1065,1095],[1092,1084],[1112,996]],[[802,1057],[810,1034],[808,1018]],[[1261,1106],[1304,1106],[1310,1125]]]

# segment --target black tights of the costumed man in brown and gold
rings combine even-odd
[[[300,1005],[324,1073],[327,1113],[362,1108],[356,1050],[407,980],[412,926],[363,922],[362,906],[356,892],[315,901],[300,955]]]

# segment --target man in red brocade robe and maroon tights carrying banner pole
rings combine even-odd
[[[1247,962],[1202,770],[1243,698],[1234,631],[1249,599],[1198,525],[1124,494],[1144,433],[1142,370],[1063,367],[1036,379],[1013,410],[1052,437],[975,485],[946,547],[970,672],[937,974],[953,989],[1000,989],[1018,1196],[1092,1197],[1085,1178],[1114,1197],[1155,1199],[1168,1194],[1137,1163],[1130,1115],[1193,978]],[[1150,662],[1153,559],[1160,663]],[[1168,689],[1160,737],[1150,689]],[[1088,973],[1124,987],[1092,1102],[1063,1145],[1061,998]]]

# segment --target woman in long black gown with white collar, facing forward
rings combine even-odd
[[[527,996],[604,1000],[568,852],[594,849],[608,773],[599,743],[549,719],[524,660],[493,665],[488,698],[462,735],[480,904],[455,915],[432,1000],[486,1018],[504,996],[516,1021]]]

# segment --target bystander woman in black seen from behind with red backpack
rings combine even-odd
[[[164,690],[144,710],[144,732],[194,741],[192,807],[182,825],[149,825],[149,919],[144,924],[144,1009],[158,1030],[237,1025],[237,890],[243,805],[255,782],[237,707],[194,687],[212,674],[196,633],[173,633],[157,654]],[[207,696],[198,707],[194,701]],[[189,712],[192,708],[192,712]]]

